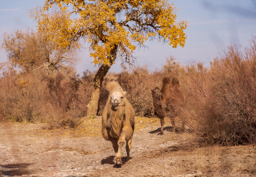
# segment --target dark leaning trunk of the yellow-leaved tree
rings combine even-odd
[[[101,65],[94,77],[91,100],[87,105],[87,117],[97,116],[102,81],[116,58],[117,47],[118,46],[115,46],[114,49],[112,49],[111,55],[108,57],[110,62]]]

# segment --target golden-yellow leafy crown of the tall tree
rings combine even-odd
[[[45,0],[31,11],[39,32],[63,49],[90,43],[94,64],[130,62],[136,46],[158,37],[176,48],[184,46],[186,21],[177,21],[168,0]]]

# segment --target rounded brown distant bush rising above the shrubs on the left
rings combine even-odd
[[[4,33],[0,48],[6,52],[8,62],[23,71],[45,67],[49,73],[75,63],[75,50],[63,50],[53,42],[45,41],[44,37],[31,29],[16,30]]]

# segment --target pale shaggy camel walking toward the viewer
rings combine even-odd
[[[126,99],[126,92],[115,82],[106,85],[110,92],[102,114],[102,135],[111,141],[114,148],[115,164],[122,164],[121,149],[126,141],[127,161],[130,162],[130,150],[135,125],[135,112]]]

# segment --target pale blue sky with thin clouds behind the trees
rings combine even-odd
[[[136,50],[136,65],[147,66],[150,71],[161,69],[166,59],[172,56],[183,65],[191,61],[210,61],[223,53],[226,47],[237,45],[248,47],[252,36],[256,36],[256,0],[169,0],[179,11],[178,19],[186,20],[187,40],[184,48],[172,48],[158,41],[146,42],[146,49]],[[17,29],[36,29],[36,22],[29,17],[28,10],[43,5],[44,0],[0,0],[0,43],[3,33]],[[85,70],[98,69],[89,57],[88,45],[77,53],[75,68],[78,74]],[[0,49],[0,62],[6,61]],[[120,62],[112,65],[110,72],[120,72]]]

